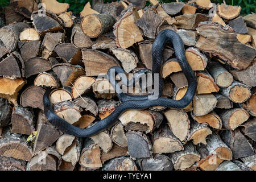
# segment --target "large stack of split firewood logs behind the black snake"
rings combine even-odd
[[[0,170],[256,170],[255,14],[210,0],[127,0],[87,3],[76,17],[67,3],[41,2],[11,1],[0,21]],[[72,125],[108,117],[120,102],[97,76],[113,66],[151,70],[162,30],[185,44],[198,83],[191,104],[126,111],[90,138],[47,121],[47,87]],[[188,82],[170,43],[163,59],[162,97],[180,100]]]

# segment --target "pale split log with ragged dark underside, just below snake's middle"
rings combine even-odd
[[[126,130],[152,132],[154,129],[154,118],[145,110],[128,110],[118,118]]]

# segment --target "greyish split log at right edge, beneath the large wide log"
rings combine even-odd
[[[249,65],[246,69],[243,70],[232,70],[230,73],[234,78],[240,81],[242,84],[247,85],[248,87],[256,86],[256,80],[254,79],[256,69],[256,61],[253,64]]]

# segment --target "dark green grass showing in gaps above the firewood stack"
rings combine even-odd
[[[69,3],[70,7],[69,10],[72,11],[74,14],[79,13],[82,11],[85,3],[88,0],[57,0],[59,2]],[[91,1],[91,0],[89,0]],[[117,0],[114,0],[117,1]],[[176,2],[175,0],[159,0],[162,3],[168,2]],[[112,0],[104,0],[104,3],[112,2]],[[187,0],[180,0],[180,2],[187,2]],[[222,0],[212,0],[214,3],[222,3]],[[147,5],[150,3],[147,1]],[[227,5],[233,6],[241,6],[241,14],[250,14],[251,12],[256,13],[256,0],[226,0]],[[0,0],[0,9],[1,7],[5,7],[10,5],[10,0]]]

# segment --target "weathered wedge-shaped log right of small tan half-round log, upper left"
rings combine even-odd
[[[54,48],[61,42],[63,39],[62,33],[46,33],[44,35],[44,40],[42,42],[42,57],[48,59],[52,55]]]

